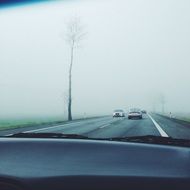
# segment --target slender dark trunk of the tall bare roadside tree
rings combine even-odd
[[[68,97],[68,121],[72,121],[72,67],[74,44],[71,46],[71,62],[69,67],[69,97]]]

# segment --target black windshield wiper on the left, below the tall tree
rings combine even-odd
[[[64,134],[64,133],[15,133],[15,134],[7,135],[6,137],[88,139],[88,137],[83,136],[83,135]]]

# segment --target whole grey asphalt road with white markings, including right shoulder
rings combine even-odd
[[[1,131],[0,135],[18,132],[81,134],[92,138],[157,135],[190,139],[190,124],[176,122],[157,114],[144,114],[142,120],[128,120],[127,117],[112,118],[111,116],[106,116],[72,121],[54,126],[6,130]]]

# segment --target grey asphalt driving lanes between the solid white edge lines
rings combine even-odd
[[[125,118],[98,118],[90,121],[73,122],[71,124],[48,127],[27,132],[56,132],[65,134],[81,134],[92,138],[110,138],[139,135],[160,135],[148,115],[142,120]]]

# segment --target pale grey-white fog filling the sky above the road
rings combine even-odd
[[[66,23],[80,17],[74,117],[139,107],[189,112],[190,1],[53,1],[0,9],[0,117],[66,117]]]

